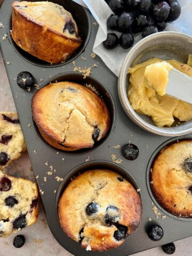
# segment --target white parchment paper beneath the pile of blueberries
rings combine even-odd
[[[90,9],[95,20],[99,23],[99,29],[95,38],[93,52],[105,62],[107,67],[118,76],[123,61],[130,51],[117,46],[113,50],[106,50],[102,42],[107,38],[107,18],[113,13],[104,0],[74,0],[74,2]],[[166,31],[178,31],[192,36],[192,0],[179,0],[182,6],[181,15],[178,20],[167,23]],[[110,32],[110,31],[109,31]],[[115,31],[119,36],[121,33]],[[134,44],[142,39],[141,33],[134,36]],[[192,49],[191,49],[192,51]]]

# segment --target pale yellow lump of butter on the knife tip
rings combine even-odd
[[[145,69],[144,76],[147,83],[151,86],[160,96],[165,95],[165,89],[169,82],[169,71],[173,67],[166,61],[156,62],[148,65]]]

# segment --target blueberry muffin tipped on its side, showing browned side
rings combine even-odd
[[[51,2],[13,2],[12,38],[38,59],[65,61],[82,44],[70,12]]]

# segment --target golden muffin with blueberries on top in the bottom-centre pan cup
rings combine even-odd
[[[107,251],[139,226],[141,198],[133,186],[109,170],[86,171],[73,179],[59,201],[65,233],[82,247]]]

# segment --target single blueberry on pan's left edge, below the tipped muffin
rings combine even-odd
[[[22,89],[31,88],[35,83],[35,79],[31,73],[28,71],[23,71],[17,76],[17,84]]]

